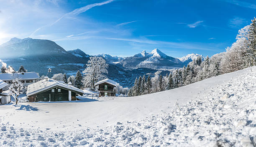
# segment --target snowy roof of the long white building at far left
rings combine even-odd
[[[0,79],[3,81],[10,81],[14,78],[19,78],[21,80],[33,80],[33,79],[40,79],[36,72],[28,72],[28,73],[4,73],[0,74]]]

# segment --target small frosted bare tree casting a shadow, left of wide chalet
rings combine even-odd
[[[23,83],[20,82],[20,79],[13,79],[12,84],[9,87],[9,90],[11,91],[11,95],[16,100],[16,105],[18,104],[18,96],[20,95],[20,91],[22,91],[23,88]]]

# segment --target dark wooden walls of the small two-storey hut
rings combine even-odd
[[[115,96],[115,86],[108,84],[107,82],[104,82],[102,84],[99,84],[100,96]]]

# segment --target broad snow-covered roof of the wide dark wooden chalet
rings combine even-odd
[[[53,79],[48,79],[48,81],[41,80],[36,83],[28,85],[28,90],[27,90],[27,96],[31,96],[33,94],[37,94],[41,91],[45,91],[47,89],[50,89],[51,87],[59,86],[65,89],[69,89],[71,91],[76,91],[78,93],[84,93],[81,89],[78,89],[77,87],[74,87],[72,85],[66,84],[63,81],[56,81]]]

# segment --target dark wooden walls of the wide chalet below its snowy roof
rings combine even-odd
[[[54,89],[54,91],[52,91]],[[60,90],[59,90],[60,89]],[[75,101],[77,93],[71,91],[71,100]],[[41,91],[38,94],[34,94],[28,97],[29,102],[33,101],[69,101],[69,90],[59,86],[52,87],[45,91]]]

